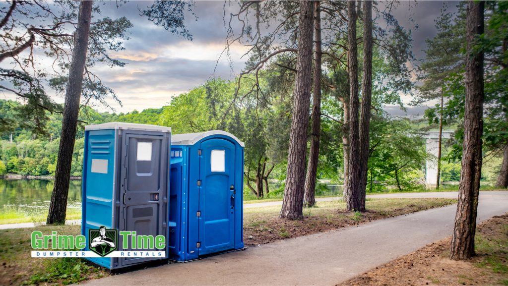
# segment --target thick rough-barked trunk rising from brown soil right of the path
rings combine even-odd
[[[464,143],[450,259],[474,256],[474,234],[482,173],[483,133],[483,52],[474,49],[474,37],[484,31],[484,2],[467,4],[466,98],[464,103]]]

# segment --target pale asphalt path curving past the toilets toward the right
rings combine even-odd
[[[457,193],[370,198],[456,198]],[[328,199],[328,198],[327,198]],[[262,203],[263,206],[272,205]],[[261,206],[260,204],[256,207]],[[335,285],[452,234],[456,205],[89,280],[92,285]],[[481,192],[478,221],[508,211],[508,192]]]

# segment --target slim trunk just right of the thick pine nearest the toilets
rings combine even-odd
[[[321,9],[320,2],[314,1],[314,97],[312,104],[312,125],[310,128],[309,162],[305,176],[305,200],[307,207],[315,204],[317,161],[321,133]]]

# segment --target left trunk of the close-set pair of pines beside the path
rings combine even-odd
[[[347,66],[350,79],[349,106],[349,159],[347,180],[344,187],[346,210],[364,211],[360,194],[360,134],[358,118],[358,47],[356,43],[356,1],[347,3],[348,17],[348,50]]]

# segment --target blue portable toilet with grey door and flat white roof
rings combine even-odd
[[[110,122],[85,126],[81,234],[90,229],[164,235],[168,241],[171,128]],[[118,236],[118,250],[122,250]],[[88,245],[85,250],[89,250]],[[129,248],[132,250],[131,241]],[[150,249],[146,249],[150,250]],[[151,249],[157,250],[157,249]],[[87,258],[118,269],[166,257]]]

